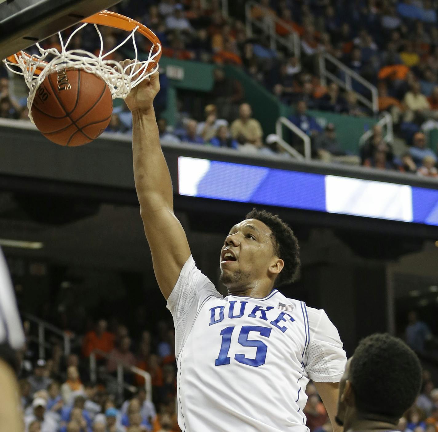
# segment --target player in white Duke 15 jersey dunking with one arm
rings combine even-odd
[[[124,66],[129,64],[125,61]],[[152,102],[158,74],[126,98],[134,177],[155,277],[175,324],[178,423],[187,432],[307,431],[312,379],[334,424],[346,355],[323,310],[276,287],[298,271],[297,239],[277,216],[252,211],[220,251],[224,298],[197,269],[173,214],[169,170]],[[218,187],[233,185],[233,172]]]

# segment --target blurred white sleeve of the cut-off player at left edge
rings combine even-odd
[[[11,345],[14,349],[22,348],[25,336],[9,271],[0,249],[0,344],[4,343]]]

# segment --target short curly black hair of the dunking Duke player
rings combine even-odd
[[[277,276],[274,285],[279,287],[293,282],[300,268],[300,246],[298,246],[298,240],[293,231],[276,214],[266,210],[253,208],[246,215],[246,218],[257,219],[272,231],[274,253],[284,261],[283,270]]]

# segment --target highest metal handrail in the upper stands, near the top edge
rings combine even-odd
[[[257,19],[252,17],[253,7],[259,7],[261,10],[266,11],[264,21],[258,21]],[[245,3],[245,28],[247,37],[251,38],[253,36],[252,26],[258,27],[268,34],[269,45],[271,46],[271,49],[276,49],[277,44],[279,43],[283,46],[286,46],[286,48],[288,48],[294,56],[297,56],[299,58],[301,54],[300,35],[286,21],[272,15],[269,12],[270,11],[268,8],[261,6],[261,4],[257,3],[256,1],[251,0]],[[287,28],[290,31],[291,38],[285,38],[278,35],[276,33],[276,24]]]

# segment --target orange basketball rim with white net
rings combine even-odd
[[[26,84],[29,88],[27,106],[29,109],[29,118],[31,120],[32,102],[39,85],[44,81],[47,74],[50,74],[59,68],[82,69],[86,72],[91,72],[97,75],[108,85],[113,99],[126,98],[131,91],[131,88],[140,84],[141,81],[158,70],[158,62],[162,52],[161,44],[154,32],[149,30],[145,25],[111,11],[98,12],[81,22],[83,24],[71,33],[65,44],[60,32],[58,33],[61,51],[58,51],[56,48],[44,49],[39,43],[36,43],[35,45],[39,49],[40,55],[30,56],[24,51],[20,51],[3,60],[6,67],[11,70],[11,72],[23,75],[25,78]],[[68,44],[73,36],[88,24],[94,25],[96,32],[99,35],[100,51],[98,56],[82,49],[67,50]],[[130,32],[130,34],[123,42],[104,54],[102,34],[99,31],[98,25],[118,28]],[[145,36],[150,42],[152,42],[152,47],[149,50],[147,60],[138,60],[137,46],[135,43],[136,32]],[[135,52],[135,58],[130,65],[122,67],[119,62],[107,59],[110,54],[117,51],[117,49],[130,39],[134,44]],[[49,55],[52,55],[53,59],[46,62],[45,59]],[[136,66],[138,66],[138,70],[135,70]],[[20,68],[21,72],[17,70],[17,67]]]

